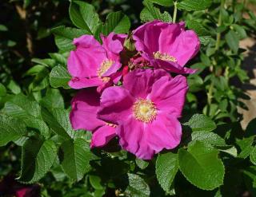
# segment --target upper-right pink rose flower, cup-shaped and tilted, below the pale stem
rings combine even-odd
[[[173,73],[195,73],[184,67],[200,48],[193,30],[185,30],[185,23],[147,22],[134,30],[136,49],[150,65]]]

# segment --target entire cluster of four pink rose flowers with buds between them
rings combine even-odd
[[[122,148],[144,160],[177,147],[188,85],[186,77],[170,73],[195,72],[185,65],[198,53],[196,33],[184,22],[148,22],[133,31],[136,51],[129,54],[126,34],[101,39],[74,39],[68,58],[69,85],[82,89],[71,101],[73,128],[92,132],[91,148],[118,136]]]

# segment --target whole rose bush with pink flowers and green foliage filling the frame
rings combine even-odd
[[[51,30],[58,52],[22,82],[2,72],[0,146],[21,149],[18,181],[42,196],[255,195],[256,122],[242,129],[236,85],[255,15],[144,0],[140,23],[131,5],[70,1],[73,24]]]

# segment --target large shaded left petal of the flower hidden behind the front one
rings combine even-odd
[[[83,89],[71,100],[70,122],[74,129],[92,131],[105,125],[105,122],[98,120],[96,116],[99,97],[95,89]]]

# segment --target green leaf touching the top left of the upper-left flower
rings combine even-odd
[[[76,37],[81,37],[86,34],[86,30],[78,30],[71,27],[58,26],[51,30],[55,36],[55,43],[58,46],[58,49],[62,51],[70,51],[74,49],[72,41]]]

